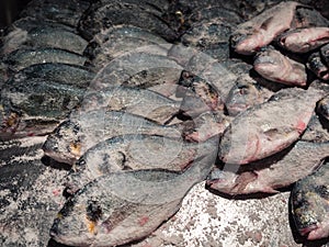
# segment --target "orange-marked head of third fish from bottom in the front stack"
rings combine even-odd
[[[63,122],[43,145],[44,154],[59,162],[75,164],[82,155],[80,127],[71,121]]]

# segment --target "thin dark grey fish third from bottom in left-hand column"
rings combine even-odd
[[[4,61],[11,70],[18,71],[31,65],[45,63],[64,63],[82,66],[87,61],[87,58],[65,49],[38,48],[16,49],[10,53]]]

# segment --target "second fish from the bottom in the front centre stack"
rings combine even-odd
[[[205,149],[206,148],[206,149]],[[89,148],[67,176],[66,191],[73,194],[88,182],[121,170],[166,169],[182,171],[207,154],[207,143],[186,143],[152,135],[122,135]]]

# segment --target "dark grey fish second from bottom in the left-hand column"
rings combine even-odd
[[[90,69],[79,66],[61,63],[46,63],[31,65],[15,72],[8,83],[15,83],[22,80],[33,78],[43,78],[44,80],[56,81],[67,86],[87,88],[95,74]]]

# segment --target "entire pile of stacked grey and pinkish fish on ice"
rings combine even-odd
[[[315,7],[326,15],[326,4]],[[276,0],[33,0],[20,18],[2,38],[0,138],[47,136],[45,156],[70,166],[56,242],[144,238],[204,180],[234,197],[299,180],[299,233],[329,237],[320,12]]]

